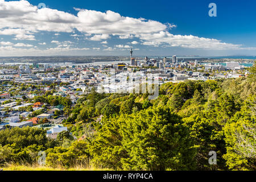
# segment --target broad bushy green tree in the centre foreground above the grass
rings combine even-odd
[[[112,169],[193,169],[193,140],[170,109],[150,107],[110,118],[96,127],[93,163]]]

